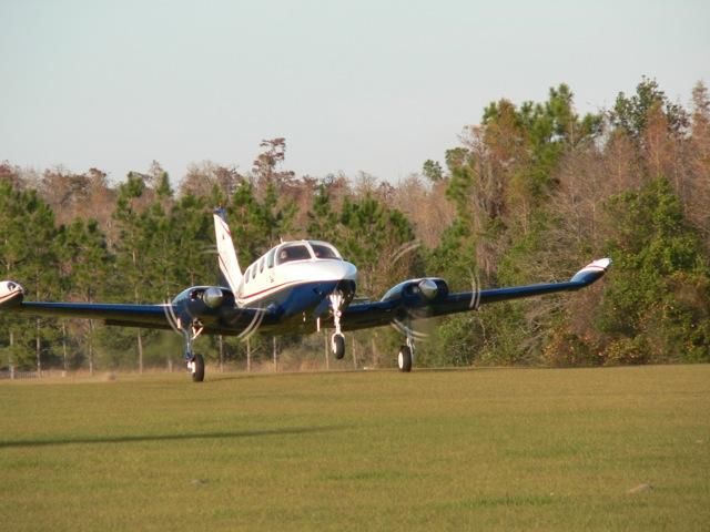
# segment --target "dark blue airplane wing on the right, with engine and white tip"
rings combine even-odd
[[[595,260],[577,272],[571,279],[562,283],[457,294],[448,294],[443,279],[412,279],[389,290],[382,301],[352,304],[343,314],[343,328],[355,330],[378,327],[413,316],[415,319],[446,316],[476,310],[480,305],[488,303],[542,296],[557,291],[575,291],[600,279],[610,265],[609,258]],[[429,285],[423,286],[424,283]]]

